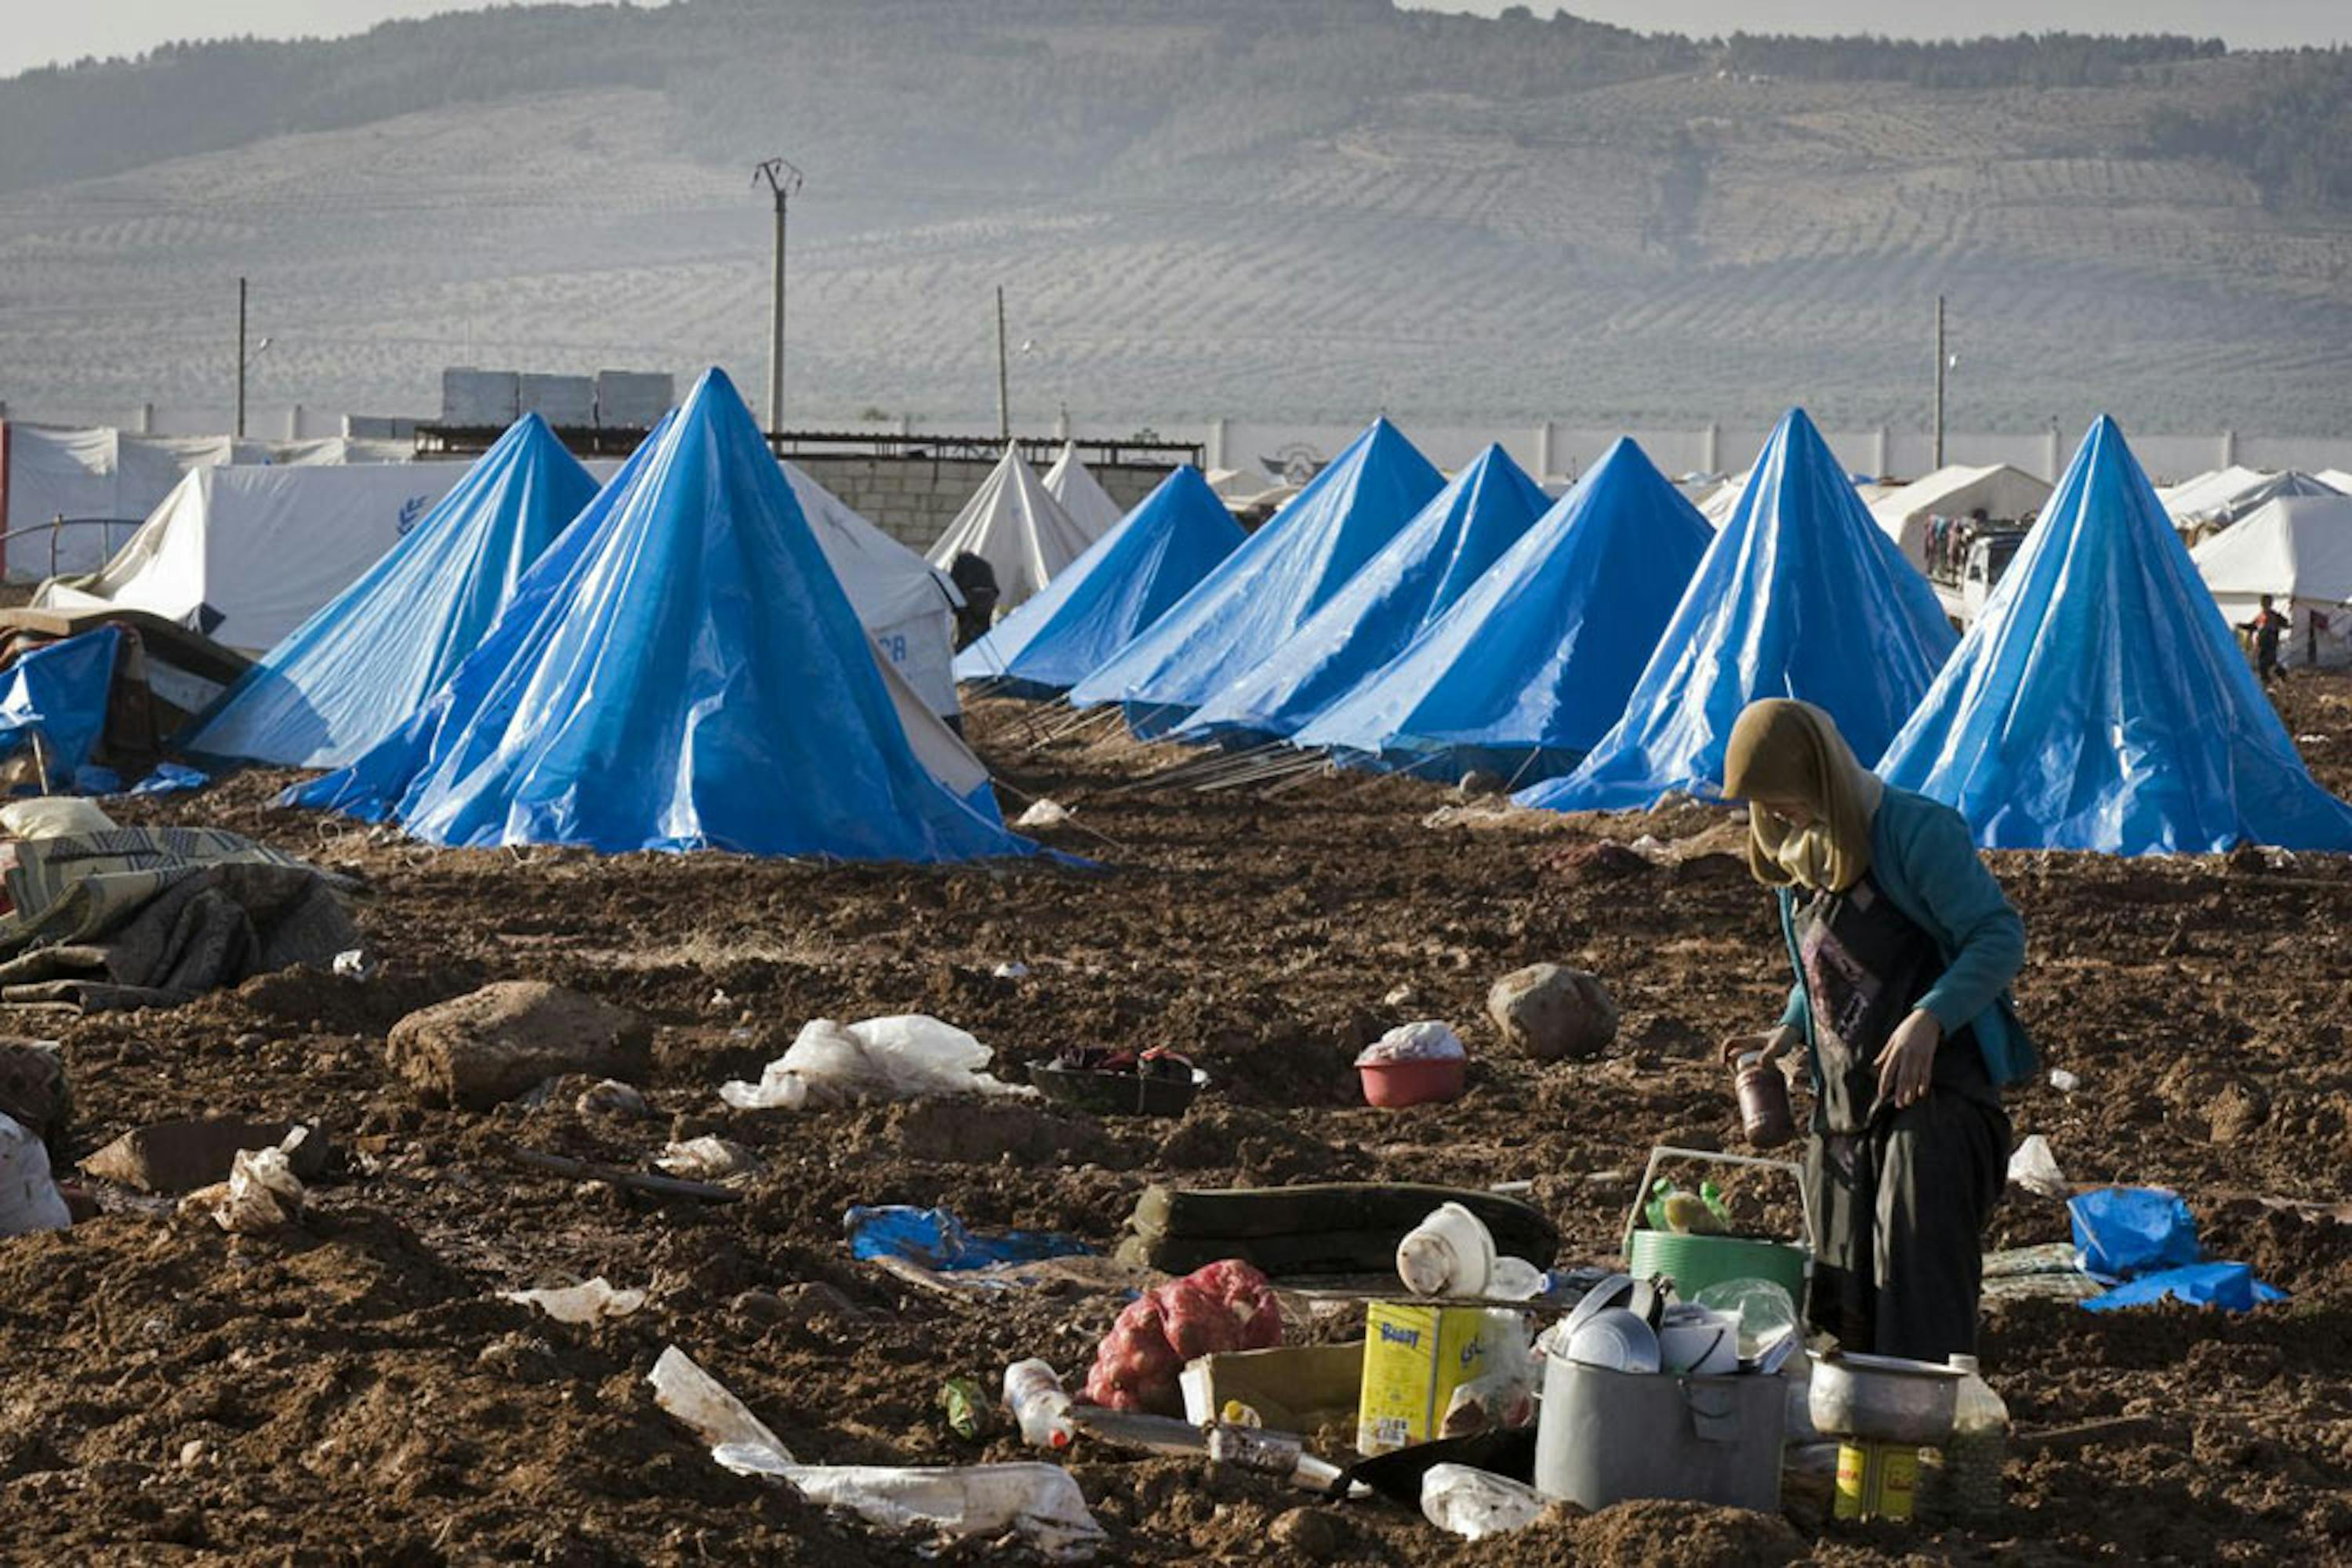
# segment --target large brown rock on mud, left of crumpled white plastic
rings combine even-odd
[[[499,980],[395,1023],[386,1058],[428,1105],[487,1110],[567,1072],[642,1077],[652,1041],[628,1009],[543,980]]]

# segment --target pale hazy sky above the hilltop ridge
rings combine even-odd
[[[978,2],[978,0],[960,0]],[[1498,12],[1505,0],[1446,0]],[[390,16],[477,9],[482,0],[5,0],[0,75],[85,54],[136,54],[176,38],[358,33]],[[1534,5],[1550,16],[1559,0]],[[1571,0],[1566,9],[1684,33],[2084,33],[2220,35],[2239,47],[2352,42],[2347,0]]]

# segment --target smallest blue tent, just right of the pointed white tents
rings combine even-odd
[[[1051,583],[955,656],[955,679],[1068,691],[1240,548],[1242,524],[1190,463]]]

